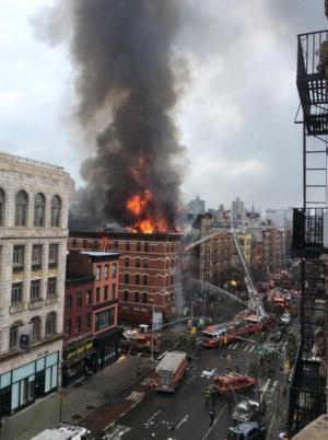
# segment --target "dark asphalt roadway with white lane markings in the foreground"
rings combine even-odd
[[[175,394],[152,391],[133,409],[112,424],[103,439],[224,440],[229,426],[233,424],[231,414],[234,402],[216,395],[214,421],[210,427],[212,403],[206,402],[204,389],[211,384],[213,373],[226,373],[229,368],[234,370],[236,366],[242,373],[247,373],[255,356],[255,345],[244,341],[221,349],[202,350],[200,358],[192,360],[191,370]],[[278,378],[260,377],[258,386],[245,394],[255,400],[265,396],[268,414],[276,410],[278,387]],[[243,395],[238,393],[234,398],[239,402]]]

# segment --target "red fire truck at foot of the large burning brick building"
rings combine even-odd
[[[137,328],[126,328],[124,331],[122,350],[124,351],[151,351],[160,350],[160,336],[152,335],[149,325],[140,324]],[[153,339],[153,347],[152,347]]]

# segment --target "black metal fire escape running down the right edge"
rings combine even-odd
[[[327,40],[328,31],[323,31],[298,35],[297,42],[296,82],[303,119],[296,123],[303,127],[303,208],[294,209],[293,251],[301,258],[302,298],[301,343],[290,384],[290,435],[327,410],[325,343],[318,349],[318,335],[327,335]]]

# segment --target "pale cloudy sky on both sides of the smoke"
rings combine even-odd
[[[189,72],[175,109],[184,201],[301,206],[296,35],[328,28],[324,0],[177,1],[175,57]],[[1,0],[0,150],[62,165],[80,186],[90,151],[72,117],[74,65],[68,45],[47,40],[39,25],[54,2]],[[48,20],[69,34],[69,21]]]

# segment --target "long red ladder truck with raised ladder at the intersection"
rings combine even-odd
[[[210,325],[201,334],[201,343],[204,347],[216,348],[234,343],[267,328],[263,320],[257,315],[247,315],[238,321],[225,324]]]

